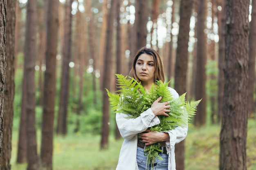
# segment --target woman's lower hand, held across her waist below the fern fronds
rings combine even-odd
[[[169,141],[169,134],[166,132],[150,131],[146,130],[138,134],[138,138],[145,143],[146,146],[160,142],[161,146],[164,146],[165,141]]]

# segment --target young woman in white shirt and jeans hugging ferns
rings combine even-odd
[[[131,76],[134,77],[146,91],[149,91],[156,80],[164,82],[163,62],[157,51],[150,48],[141,48],[134,57]],[[178,93],[169,88],[174,98]],[[171,106],[169,102],[160,103],[162,97],[153,102],[151,107],[135,119],[126,119],[123,113],[116,114],[116,121],[124,143],[121,147],[116,170],[145,170],[148,166],[144,147],[159,142],[164,152],[159,152],[163,160],[156,159],[153,163],[156,170],[175,170],[175,144],[182,141],[187,134],[185,127],[176,127],[167,132],[148,130],[149,127],[160,123],[158,115],[168,116]]]

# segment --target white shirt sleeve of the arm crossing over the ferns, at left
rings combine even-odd
[[[131,139],[138,133],[144,132],[147,128],[160,123],[151,108],[148,108],[137,118],[127,119],[127,116],[124,113],[116,113],[117,127],[124,139]]]

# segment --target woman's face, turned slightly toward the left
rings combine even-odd
[[[155,82],[155,62],[152,55],[141,54],[136,61],[135,70],[142,84]]]

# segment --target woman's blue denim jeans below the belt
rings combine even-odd
[[[168,170],[168,155],[158,154],[163,160],[156,158],[154,167],[151,168],[151,163],[148,164],[147,156],[144,156],[144,149],[137,147],[137,163],[139,170]]]

